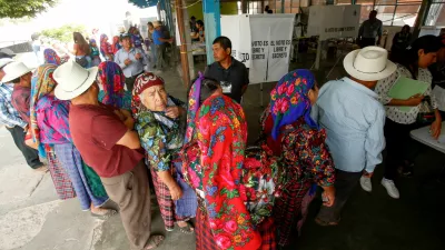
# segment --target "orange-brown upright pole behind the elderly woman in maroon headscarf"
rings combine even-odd
[[[178,19],[178,29],[179,29],[179,39],[180,39],[180,58],[181,58],[181,67],[182,67],[182,81],[186,87],[190,83],[190,71],[188,68],[188,58],[187,58],[187,42],[185,36],[184,28],[184,13],[182,13],[182,1],[176,0],[176,14]]]

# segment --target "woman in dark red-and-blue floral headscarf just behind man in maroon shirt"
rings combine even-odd
[[[123,89],[125,76],[122,69],[116,62],[101,62],[97,81],[100,87],[100,102],[117,109],[131,110],[131,92]]]

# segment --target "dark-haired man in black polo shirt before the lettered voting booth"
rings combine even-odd
[[[212,50],[215,62],[207,67],[204,76],[219,81],[222,93],[241,103],[249,84],[246,66],[231,57],[231,41],[226,37],[215,39]]]

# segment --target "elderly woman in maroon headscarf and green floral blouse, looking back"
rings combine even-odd
[[[192,233],[187,222],[195,217],[197,199],[182,180],[179,150],[184,142],[184,103],[167,94],[164,80],[152,73],[136,79],[134,114],[167,231],[175,222],[180,231]]]

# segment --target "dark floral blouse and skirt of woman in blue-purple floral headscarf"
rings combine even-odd
[[[264,116],[264,131],[270,140],[273,121],[270,111]],[[334,162],[325,143],[326,132],[310,128],[304,117],[280,129],[277,144],[270,144],[274,152],[280,152],[285,168],[280,180],[279,198],[275,202],[274,219],[278,228],[278,244],[290,243],[293,229],[301,216],[301,201],[313,182],[332,186],[335,181]]]

